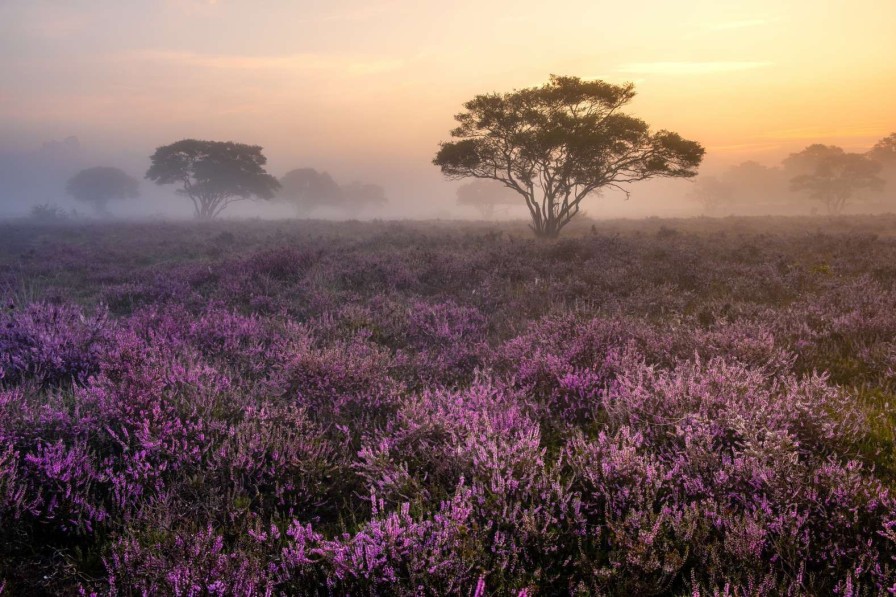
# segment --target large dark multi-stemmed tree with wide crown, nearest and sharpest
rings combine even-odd
[[[516,191],[535,234],[553,238],[590,193],[628,195],[626,183],[697,174],[703,147],[621,113],[634,97],[632,84],[554,75],[541,87],[477,95],[455,116],[457,140],[442,143],[433,163],[449,178]]]

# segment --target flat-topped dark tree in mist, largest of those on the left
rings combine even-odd
[[[237,201],[271,199],[280,188],[265,171],[267,158],[257,145],[184,139],[159,147],[150,159],[146,178],[182,185],[177,192],[190,198],[196,217],[204,220]]]

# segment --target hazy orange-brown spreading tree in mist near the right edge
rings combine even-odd
[[[806,192],[821,201],[828,214],[842,213],[859,191],[879,190],[884,180],[877,175],[878,162],[859,153],[846,153],[834,145],[810,145],[784,160],[785,168],[799,172],[790,180],[791,189]]]

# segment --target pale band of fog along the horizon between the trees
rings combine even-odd
[[[115,151],[91,147],[78,137],[50,139],[29,151],[0,153],[0,217],[22,218],[36,206],[52,206],[78,218],[95,218],[90,205],[80,203],[65,192],[66,181],[78,171],[97,166],[114,166],[140,180],[140,196],[111,202],[105,217],[165,218],[192,217],[192,206],[176,192],[174,185],[159,186],[145,180],[154,148],[124,147]],[[870,149],[870,148],[865,148]],[[329,156],[312,160],[265,152],[267,170],[280,178],[297,167],[315,168],[337,183],[372,183],[383,187],[388,202],[381,206],[346,213],[338,208],[317,207],[297,210],[282,199],[240,201],[228,207],[229,218],[320,219],[527,219],[523,199],[511,193],[510,201],[488,213],[470,204],[459,204],[458,188],[468,181],[450,181],[429,163],[431,156],[411,161],[360,161],[353,156]],[[766,163],[748,160],[728,162],[711,154],[700,174],[689,180],[648,180],[628,185],[630,196],[618,190],[594,193],[583,202],[583,216],[593,219],[693,217],[727,215],[806,215],[823,213],[819,206],[790,190],[780,164],[788,154],[766,157]],[[887,185],[882,192],[865,193],[852,201],[846,213],[884,213],[896,210],[896,177],[884,172]],[[725,181],[724,197],[713,195],[707,182]],[[707,194],[709,196],[707,196]],[[734,197],[731,197],[734,195]],[[517,201],[513,198],[516,197]]]

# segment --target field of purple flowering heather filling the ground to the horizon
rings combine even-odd
[[[0,224],[0,593],[896,592],[896,217]]]

